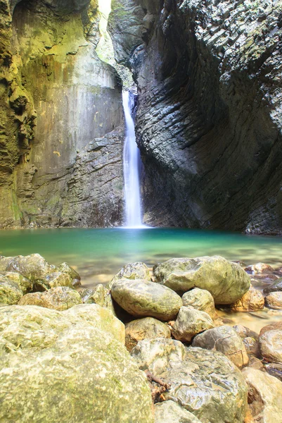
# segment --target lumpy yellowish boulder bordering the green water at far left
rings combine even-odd
[[[46,290],[56,286],[77,286],[77,272],[62,263],[58,266],[46,262],[39,254],[16,257],[0,257],[0,271],[17,272],[33,283],[34,290]]]

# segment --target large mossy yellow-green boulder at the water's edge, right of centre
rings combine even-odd
[[[215,304],[231,304],[250,288],[250,276],[223,257],[170,259],[153,269],[155,281],[175,291],[197,287],[208,290]]]

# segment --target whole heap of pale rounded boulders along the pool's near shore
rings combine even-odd
[[[89,289],[67,263],[0,257],[1,421],[279,422],[281,323],[255,333],[218,314],[262,310],[259,266],[136,262]]]

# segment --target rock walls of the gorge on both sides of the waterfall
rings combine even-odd
[[[122,224],[127,66],[144,222],[281,233],[281,1],[113,0],[111,64],[98,1],[0,7],[2,228]]]

